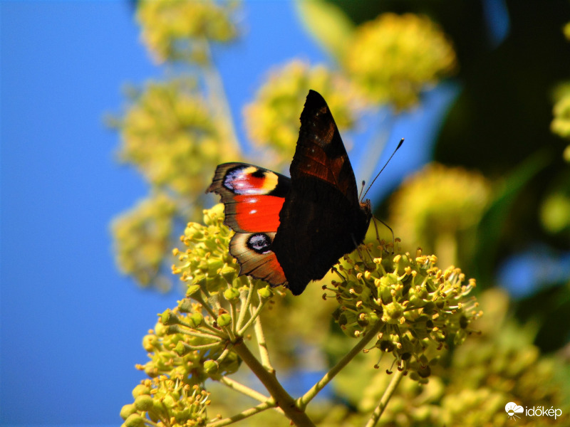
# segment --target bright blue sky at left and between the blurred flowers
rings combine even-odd
[[[244,141],[242,106],[272,67],[328,58],[293,2],[245,2],[241,18],[242,38],[214,56]],[[141,291],[115,267],[110,221],[148,189],[116,162],[103,117],[125,106],[125,83],[163,70],[130,1],[0,1],[0,31],[0,425],[116,426],[145,377],[142,336],[180,295]],[[426,161],[455,94],[398,119],[388,141],[406,143],[372,198]],[[357,180],[367,153],[351,153]]]

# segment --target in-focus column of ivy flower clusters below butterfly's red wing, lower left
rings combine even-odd
[[[129,427],[163,419],[170,421],[158,425],[204,425],[204,381],[221,381],[239,369],[242,360],[233,346],[274,295],[258,280],[238,277],[227,253],[232,232],[223,224],[223,209],[219,204],[204,211],[204,224],[189,223],[181,238],[187,250],[174,251],[178,263],[172,271],[187,284],[186,297],[165,310],[142,339],[150,360],[137,368],[152,381],[135,387],[135,403],[123,407]]]

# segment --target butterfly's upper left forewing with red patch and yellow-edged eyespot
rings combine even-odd
[[[246,163],[220,164],[207,191],[222,196],[224,223],[237,233],[274,232],[291,179]]]

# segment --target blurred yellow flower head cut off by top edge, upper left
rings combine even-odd
[[[137,19],[142,40],[157,62],[207,63],[207,41],[227,42],[237,35],[232,22],[236,2],[141,0]]]

